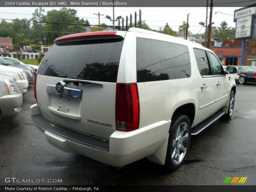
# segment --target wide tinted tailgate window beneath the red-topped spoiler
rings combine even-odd
[[[54,44],[38,74],[116,82],[124,39],[84,40]]]

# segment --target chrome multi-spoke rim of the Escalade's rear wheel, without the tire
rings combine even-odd
[[[186,122],[181,123],[172,140],[172,162],[179,164],[185,157],[189,147],[189,126]]]

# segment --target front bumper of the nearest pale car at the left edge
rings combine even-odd
[[[23,98],[21,93],[0,97],[0,108],[3,118],[12,118],[18,115]]]

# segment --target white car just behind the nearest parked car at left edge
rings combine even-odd
[[[0,66],[0,75],[1,74],[14,76],[20,86],[20,91],[22,94],[28,91],[28,79],[22,69],[8,66]]]

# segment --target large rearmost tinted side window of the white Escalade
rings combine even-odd
[[[137,82],[181,79],[191,76],[188,47],[137,37]]]

